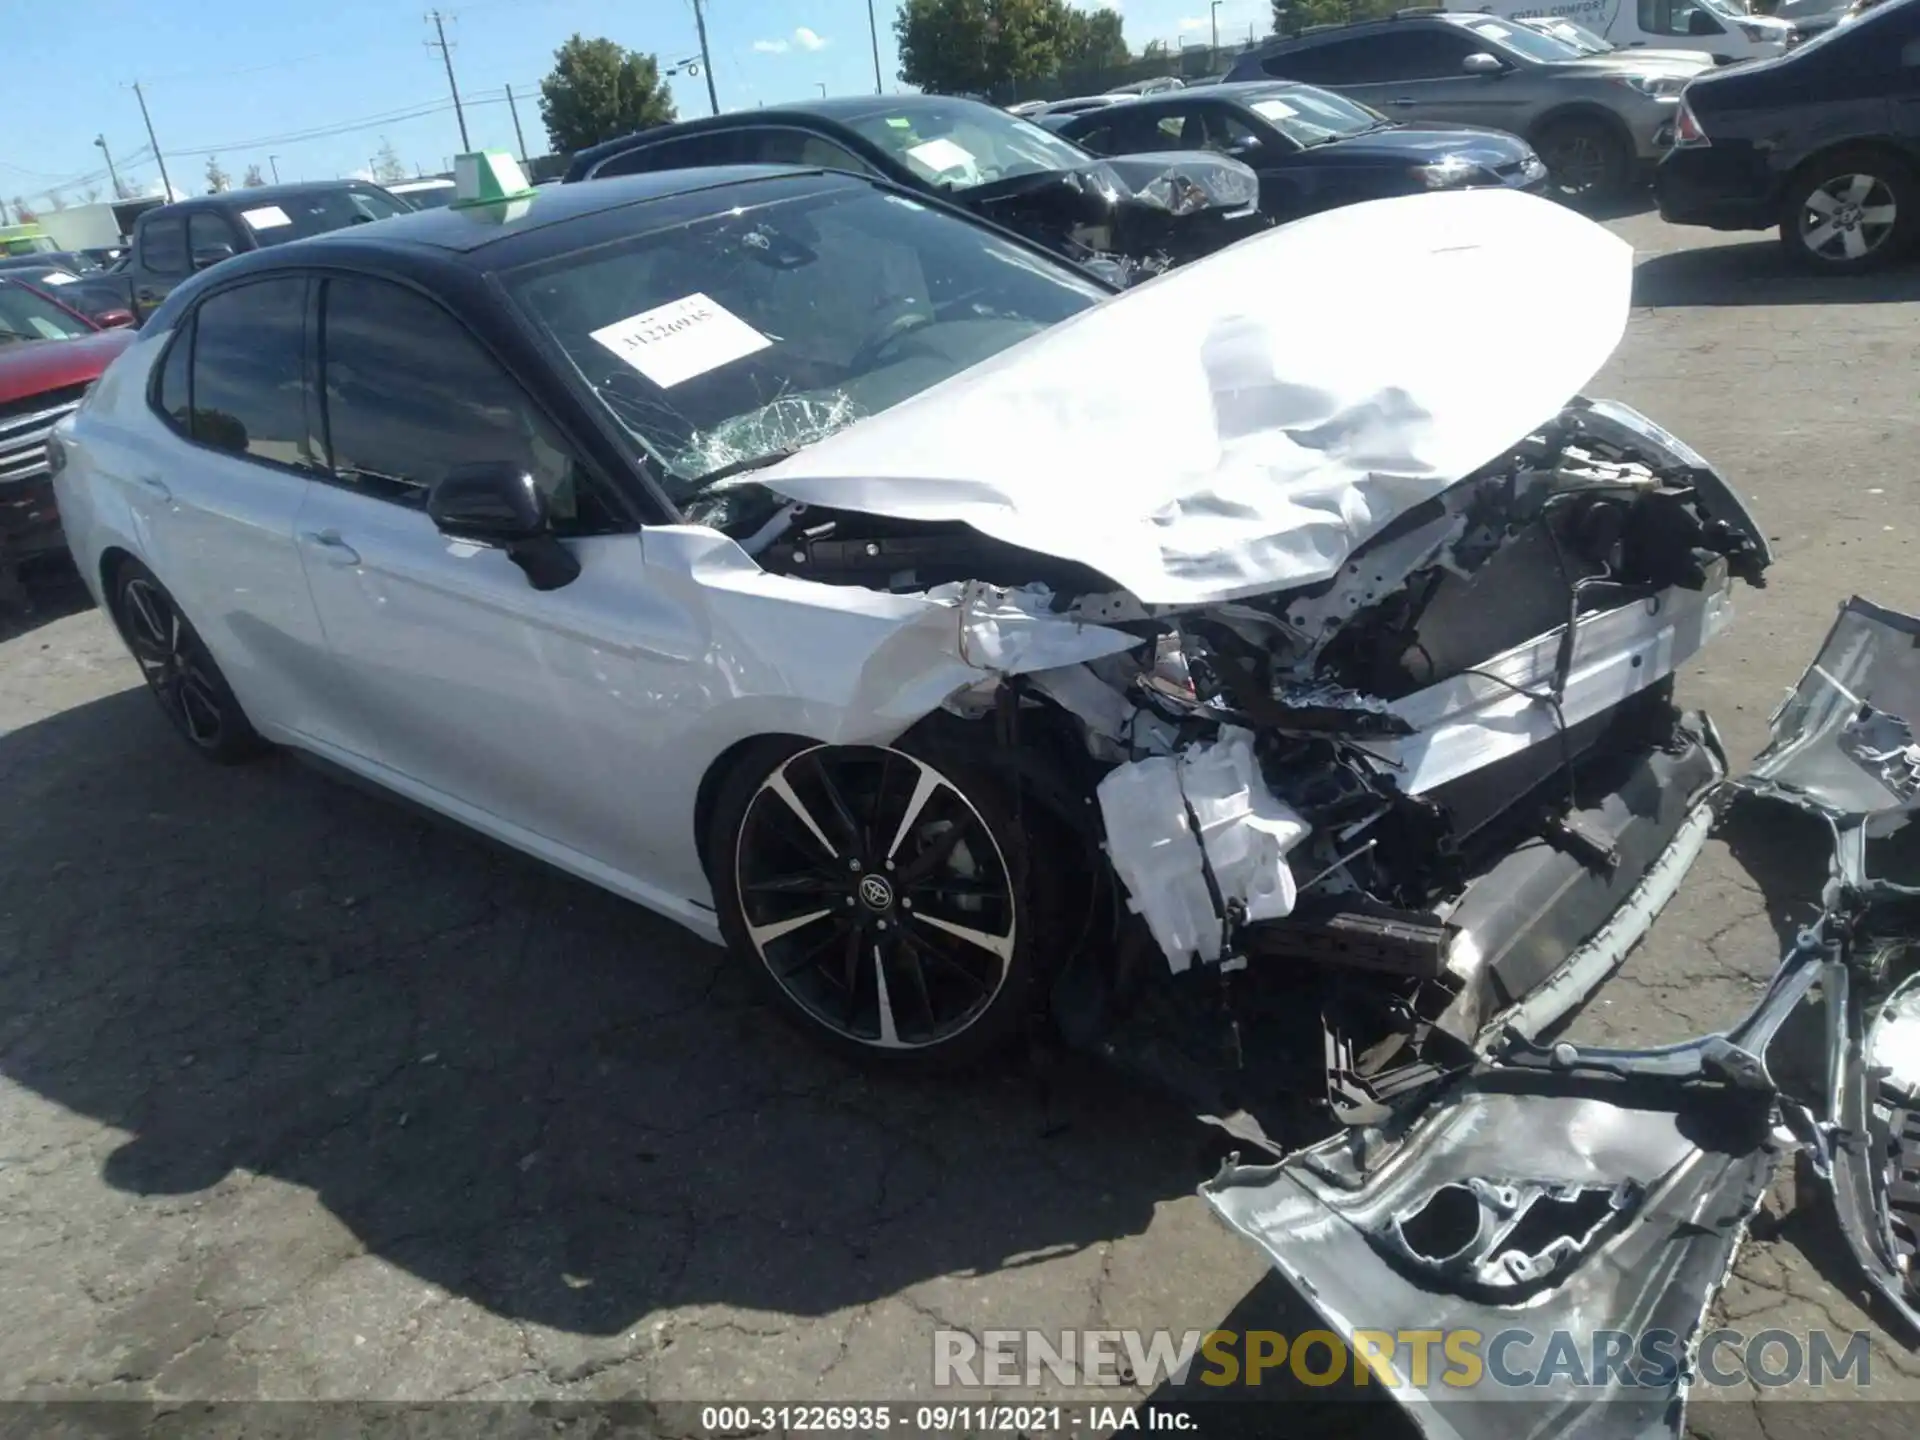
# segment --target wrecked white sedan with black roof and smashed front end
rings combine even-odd
[[[877,182],[647,175],[219,265],[56,486],[209,758],[605,885],[856,1056],[1050,1018],[1260,1140],[1538,1033],[1699,849],[1672,674],[1768,551],[1580,397],[1628,282],[1503,192],[1110,294]]]

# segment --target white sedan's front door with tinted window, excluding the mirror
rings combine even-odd
[[[649,593],[639,536],[614,522],[545,413],[434,301],[332,276],[321,315],[332,463],[298,536],[365,724],[355,751],[482,829],[563,847],[563,862],[657,874],[639,756],[660,710],[684,708],[701,645],[684,612]],[[534,476],[578,580],[536,591],[505,551],[440,534],[428,488],[482,461]]]

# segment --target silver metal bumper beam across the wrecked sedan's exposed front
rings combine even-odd
[[[1361,749],[1396,768],[1396,783],[1421,795],[1473,770],[1553,739],[1670,676],[1718,636],[1734,614],[1722,572],[1705,589],[1667,589],[1649,601],[1580,616],[1559,703],[1553,684],[1565,626],[1517,645],[1388,708],[1415,733],[1367,739]],[[1557,712],[1555,712],[1557,708]]]

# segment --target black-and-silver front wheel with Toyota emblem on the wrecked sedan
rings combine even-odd
[[[964,758],[770,741],[730,778],[708,856],[728,947],[849,1058],[939,1069],[1031,1014],[1025,837]]]

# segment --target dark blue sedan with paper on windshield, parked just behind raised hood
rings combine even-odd
[[[1212,150],[1254,167],[1260,207],[1290,221],[1356,200],[1507,186],[1542,190],[1548,169],[1501,131],[1396,125],[1309,84],[1210,84],[1129,100],[1060,127],[1096,156]]]

